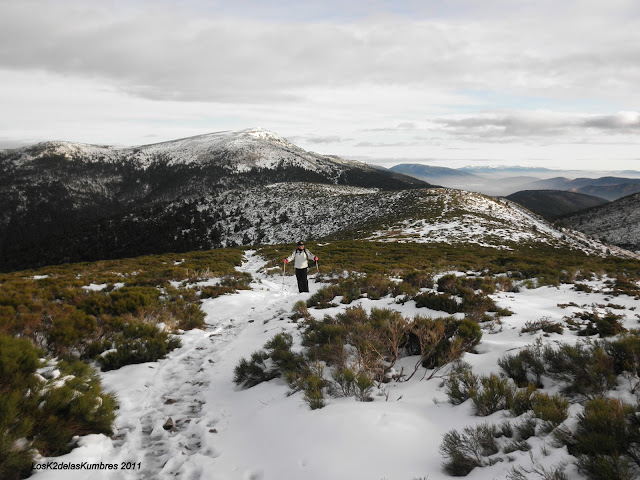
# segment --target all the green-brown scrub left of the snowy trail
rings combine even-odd
[[[111,370],[162,358],[175,333],[204,326],[199,282],[247,288],[241,258],[228,249],[1,274],[0,478],[28,476],[36,452],[67,453],[75,436],[109,434],[116,399],[85,361]]]

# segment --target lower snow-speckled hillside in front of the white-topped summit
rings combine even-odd
[[[126,231],[127,237],[117,234],[121,231]],[[133,249],[135,254],[143,254],[135,248],[148,245],[150,238],[163,245],[164,251],[360,238],[475,243],[499,249],[543,243],[568,246],[591,255],[605,255],[607,251],[633,255],[578,232],[560,231],[515,203],[481,194],[308,183],[225,190],[174,202],[161,211],[138,211],[110,221],[99,230],[100,243],[112,252]],[[69,243],[65,248],[70,248]]]

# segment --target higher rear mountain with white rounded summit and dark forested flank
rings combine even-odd
[[[128,148],[44,142],[2,150],[0,269],[95,260],[100,257],[84,255],[82,246],[89,252],[91,242],[101,241],[100,225],[112,222],[115,228],[126,224],[124,218],[153,215],[168,205],[282,182],[389,190],[430,186],[362,162],[307,152],[260,128]],[[121,255],[154,253],[122,247],[128,244],[126,232],[115,230],[108,236],[117,238],[112,246]],[[53,243],[77,248],[56,255]],[[102,252],[109,248],[105,245]]]

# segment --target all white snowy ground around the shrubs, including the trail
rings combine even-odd
[[[116,464],[117,471],[37,471],[36,478],[438,480],[451,478],[442,472],[438,452],[444,433],[501,421],[502,413],[472,416],[469,402],[450,405],[439,380],[421,381],[421,375],[390,384],[386,395],[378,392],[373,402],[329,398],[326,407],[313,411],[301,393],[287,396],[289,389],[283,380],[238,389],[232,378],[239,359],[260,349],[276,333],[292,332],[295,337],[296,324],[288,317],[295,302],[310,295],[297,293],[293,277],[286,278],[283,288],[282,277],[258,273],[263,264],[253,252],[247,252],[241,269],[254,276],[252,290],[205,300],[207,329],[182,335],[182,347],[166,359],[101,374],[104,385],[117,393],[120,403],[112,438],[90,435],[68,455],[42,460]],[[311,280],[311,294],[320,286]],[[613,302],[625,307],[616,313],[625,314],[627,327],[638,326],[635,311],[629,310],[638,306],[637,301],[577,292],[571,285],[492,297],[515,314],[503,319],[501,331],[484,333],[477,354],[465,356],[476,373],[497,372],[496,360],[501,355],[540,336],[520,333],[527,321],[542,317],[559,321],[576,309],[558,304],[574,302],[590,309],[594,304]],[[407,316],[428,313],[416,309],[413,302],[396,305],[388,297],[360,302],[367,309],[396,308]],[[345,307],[311,313],[322,318]],[[577,339],[568,330],[564,335],[542,338]],[[404,362],[407,368],[413,363],[411,358]],[[174,427],[165,430],[169,418]],[[532,453],[545,466],[568,458],[566,450],[545,445],[544,440],[534,439],[532,444]],[[548,456],[541,453],[543,447]],[[477,468],[466,478],[502,479],[513,465],[531,464],[529,453],[513,456],[512,463]],[[135,469],[122,470],[127,462]],[[571,479],[583,478],[573,466],[567,473]]]

